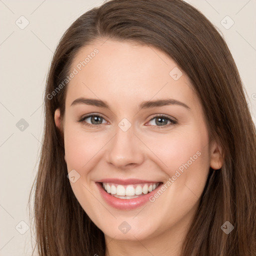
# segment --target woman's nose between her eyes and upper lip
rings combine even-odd
[[[117,127],[116,134],[108,143],[106,159],[118,169],[135,167],[144,160],[144,148],[132,126],[126,131]]]

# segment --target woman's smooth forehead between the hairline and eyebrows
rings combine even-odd
[[[70,70],[76,74],[67,86],[67,105],[81,96],[123,103],[174,97],[187,104],[195,97],[187,75],[173,59],[135,42],[96,40],[78,51]]]

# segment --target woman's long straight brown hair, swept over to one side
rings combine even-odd
[[[60,39],[47,77],[44,136],[32,186],[39,255],[105,255],[103,232],[71,189],[62,134],[54,123],[56,108],[64,114],[68,84],[48,96],[65,79],[79,49],[97,38],[136,41],[170,56],[193,84],[209,139],[223,149],[223,166],[209,170],[181,255],[256,255],[256,132],[244,88],[219,32],[182,0],[111,0],[82,14]],[[229,234],[220,228],[225,221],[234,226]]]

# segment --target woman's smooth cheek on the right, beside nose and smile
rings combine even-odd
[[[168,176],[166,181],[171,182],[168,190],[176,199],[200,196],[209,170],[208,134],[203,124],[158,136],[148,147],[153,148],[158,165]]]

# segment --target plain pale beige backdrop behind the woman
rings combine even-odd
[[[63,32],[76,18],[102,2],[0,0],[1,256],[31,255],[30,229],[26,231],[26,224],[30,227],[27,200],[38,166],[43,128],[43,89],[52,52]],[[255,122],[256,0],[187,2],[222,32],[246,88]],[[25,18],[20,18],[21,15]],[[224,18],[226,15],[230,18]],[[26,19],[29,24],[21,29]],[[234,24],[226,29],[232,20]],[[21,118],[28,123],[23,131],[16,127]]]

